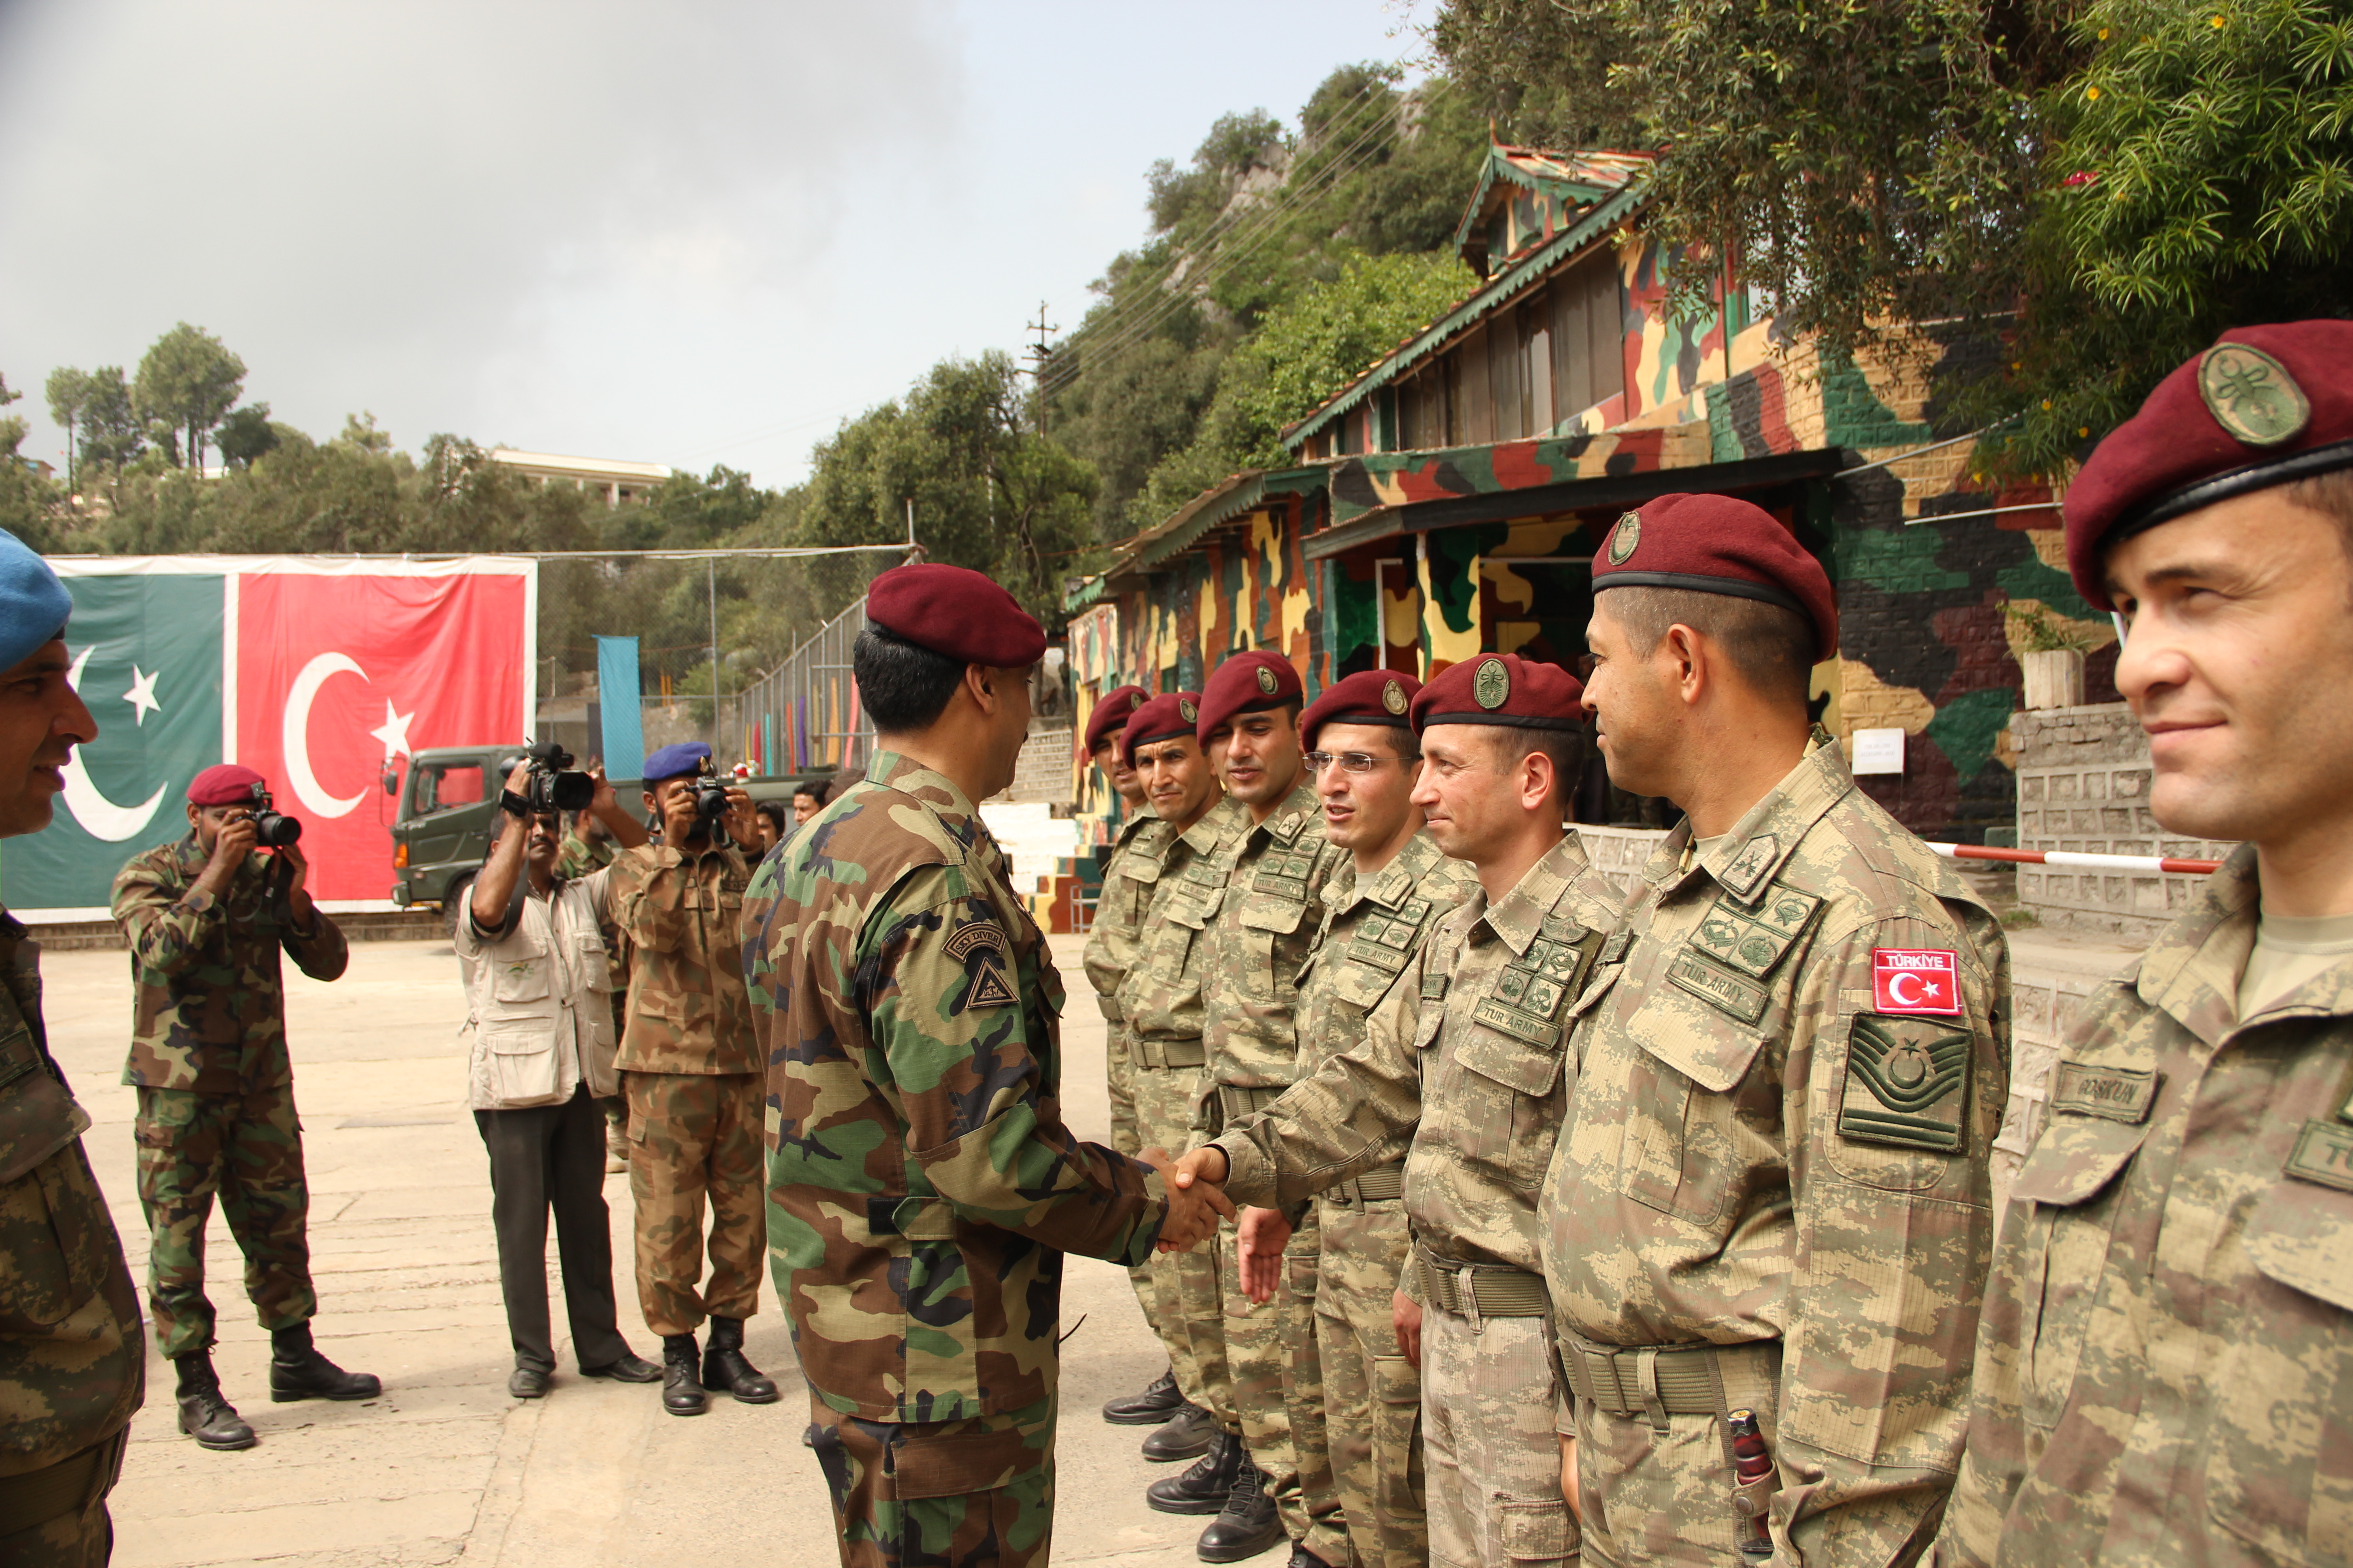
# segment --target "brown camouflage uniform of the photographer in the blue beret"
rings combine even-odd
[[[760,1309],[760,1044],[744,994],[744,889],[734,846],[682,856],[624,849],[605,870],[612,924],[628,938],[621,1093],[628,1194],[638,1208],[638,1307],[659,1335]],[[711,1279],[704,1281],[704,1201]]]

